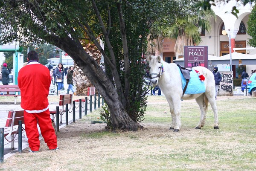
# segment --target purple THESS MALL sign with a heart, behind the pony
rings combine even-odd
[[[208,68],[208,46],[184,46],[184,67]]]

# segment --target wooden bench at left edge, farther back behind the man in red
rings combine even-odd
[[[16,104],[17,96],[20,96],[20,88],[18,85],[0,85],[0,96],[13,96]]]

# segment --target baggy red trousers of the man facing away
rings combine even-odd
[[[39,151],[40,148],[37,124],[40,127],[44,142],[47,143],[49,149],[57,148],[57,137],[52,127],[49,109],[41,113],[27,113],[24,110],[24,124],[29,147],[32,151]]]

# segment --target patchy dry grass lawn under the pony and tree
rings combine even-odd
[[[219,130],[209,105],[205,125],[195,129],[200,112],[195,100],[182,101],[181,129],[169,130],[164,96],[149,96],[144,127],[136,132],[104,131],[100,109],[58,133],[59,151],[16,153],[0,171],[253,171],[256,170],[256,98],[218,97]]]

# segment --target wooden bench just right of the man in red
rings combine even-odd
[[[62,115],[66,112],[66,104],[69,104],[70,107],[68,110],[71,110],[72,107],[72,94],[65,94],[65,95],[60,95],[60,101],[59,101],[59,113],[60,113],[60,123],[62,123]],[[55,114],[56,114],[56,109],[55,110],[50,110],[50,114],[52,115],[52,119],[54,120]]]

